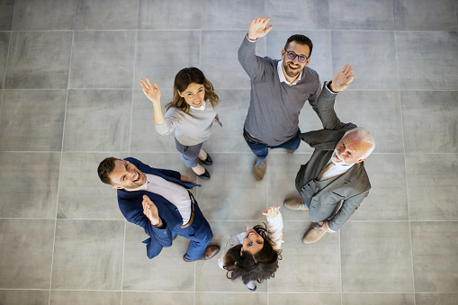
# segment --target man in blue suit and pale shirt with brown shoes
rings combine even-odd
[[[177,235],[191,240],[183,256],[185,262],[210,259],[220,251],[217,245],[209,246],[213,238],[210,225],[187,190],[199,184],[185,175],[150,167],[133,157],[107,157],[97,172],[103,183],[118,191],[118,203],[126,220],[148,234],[144,241],[148,258],[172,246]]]

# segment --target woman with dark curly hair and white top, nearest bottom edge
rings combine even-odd
[[[233,282],[241,279],[247,288],[256,291],[256,282],[274,277],[282,252],[283,219],[279,206],[263,211],[265,223],[247,232],[231,235],[221,253],[218,265],[227,270],[226,276]]]

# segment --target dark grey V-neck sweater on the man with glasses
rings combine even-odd
[[[256,56],[256,42],[247,40],[238,49],[238,61],[251,80],[250,104],[245,130],[268,145],[276,146],[297,133],[299,114],[304,103],[318,113],[317,99],[321,92],[318,73],[304,67],[296,85],[280,83],[277,66],[280,60]]]

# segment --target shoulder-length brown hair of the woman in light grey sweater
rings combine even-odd
[[[166,104],[166,110],[169,110],[172,107],[178,108],[185,113],[189,113],[190,105],[184,101],[184,98],[178,94],[184,92],[188,85],[195,83],[203,85],[205,88],[205,101],[210,101],[211,105],[214,107],[220,103],[220,97],[215,94],[213,85],[211,82],[205,78],[202,71],[197,67],[184,67],[175,76],[174,83],[174,98],[172,102]]]

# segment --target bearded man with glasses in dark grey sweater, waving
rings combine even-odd
[[[264,178],[269,148],[285,148],[289,154],[299,148],[299,114],[307,100],[318,113],[321,92],[318,73],[307,67],[313,45],[306,36],[292,35],[280,60],[256,56],[256,40],[273,28],[269,21],[262,17],[253,20],[238,49],[238,61],[251,80],[244,138],[256,155],[256,181]]]

